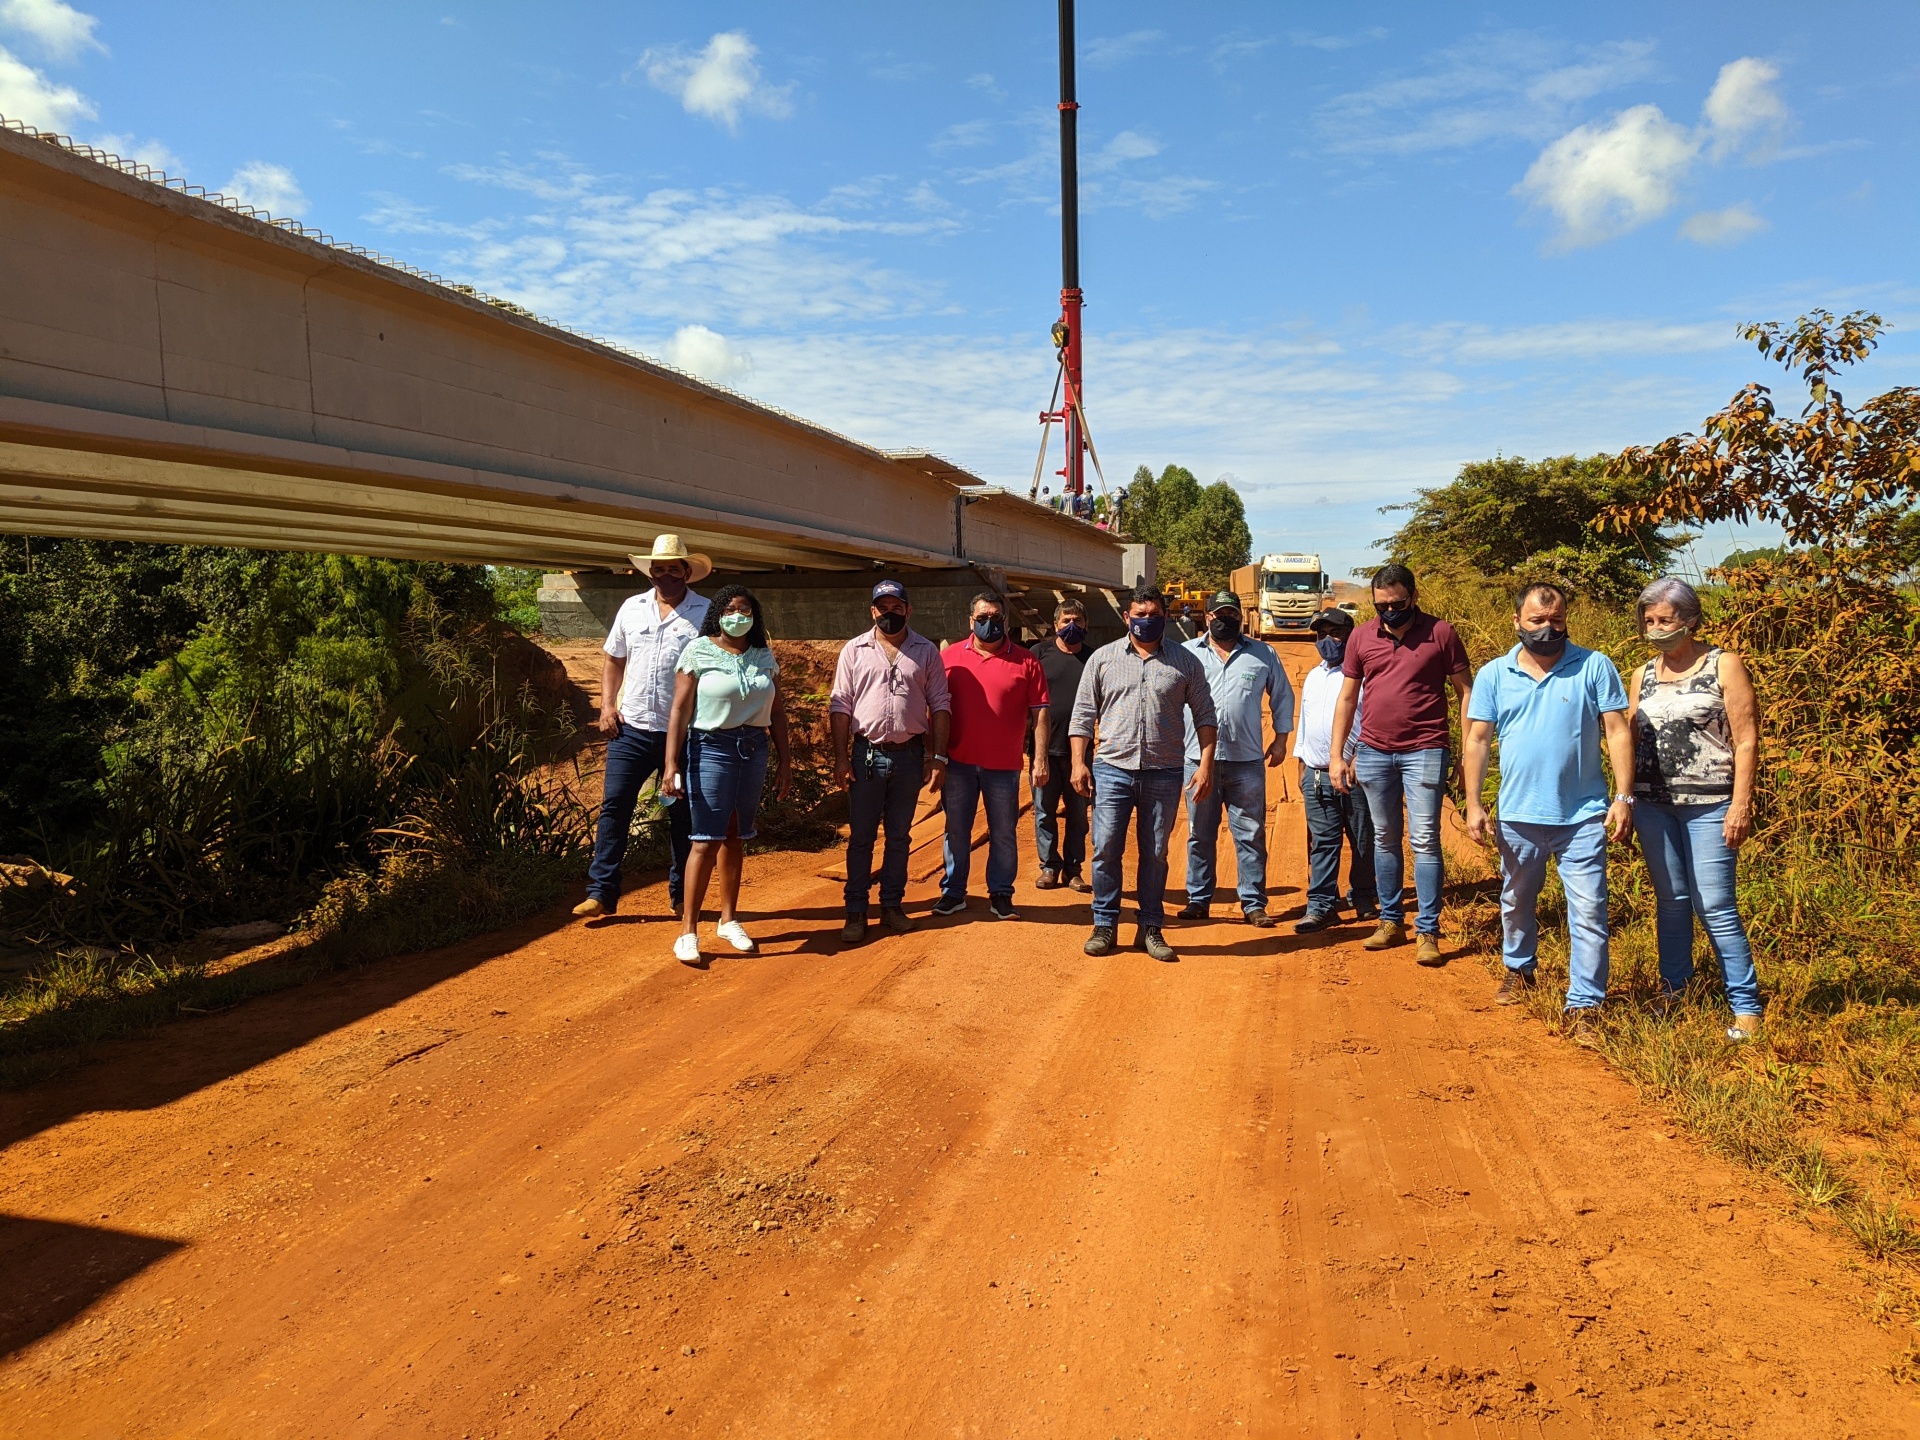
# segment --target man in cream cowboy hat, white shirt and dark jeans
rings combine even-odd
[[[657,536],[647,563],[653,589],[626,601],[607,632],[597,722],[607,737],[607,793],[588,868],[588,899],[574,906],[582,920],[611,916],[620,904],[620,862],[626,860],[639,787],[666,768],[674,666],[707,620],[707,601],[687,586],[705,580],[712,568],[712,561],[689,553],[680,536]],[[666,897],[672,912],[680,914],[680,876],[693,847],[684,799],[666,806],[666,835],[672,852]]]

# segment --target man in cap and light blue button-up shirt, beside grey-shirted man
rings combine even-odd
[[[1200,657],[1213,695],[1217,739],[1213,789],[1187,803],[1187,908],[1181,920],[1206,920],[1213,910],[1213,860],[1219,820],[1227,814],[1233,835],[1235,879],[1240,918],[1267,929],[1267,770],[1286,758],[1294,730],[1294,685],[1281,657],[1240,628],[1240,601],[1225,589],[1206,607],[1206,634],[1187,643]],[[1273,716],[1273,743],[1265,720]],[[1187,716],[1187,785],[1200,764],[1200,732]]]

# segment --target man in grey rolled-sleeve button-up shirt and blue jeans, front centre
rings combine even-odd
[[[1162,933],[1167,924],[1167,845],[1187,774],[1187,714],[1192,712],[1200,760],[1187,793],[1213,789],[1213,693],[1200,659],[1167,645],[1167,601],[1152,586],[1133,591],[1127,634],[1087,660],[1073,697],[1073,789],[1092,801],[1092,935],[1087,954],[1112,954],[1119,935],[1119,893],[1127,826],[1139,845],[1135,895],[1140,948],[1179,960]],[[1094,741],[1098,739],[1098,749]]]

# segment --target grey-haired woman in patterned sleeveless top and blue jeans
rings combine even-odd
[[[1693,916],[1720,960],[1734,1008],[1730,1041],[1761,1025],[1753,947],[1734,876],[1753,816],[1761,726],[1738,655],[1695,637],[1699,595],[1655,580],[1634,607],[1657,653],[1628,684],[1634,726],[1634,831],[1653,881],[1661,981],[1668,998],[1693,977]]]

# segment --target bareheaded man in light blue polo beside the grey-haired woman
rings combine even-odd
[[[1515,1004],[1534,987],[1540,948],[1540,887],[1548,858],[1559,862],[1567,891],[1567,1020],[1576,1041],[1592,1043],[1607,998],[1607,841],[1632,822],[1632,793],[1607,803],[1599,764],[1601,732],[1615,783],[1632,785],[1634,733],[1626,691],[1613,660],[1567,639],[1567,591],[1536,584],[1513,607],[1519,645],[1473,680],[1461,774],[1467,833],[1486,845],[1482,804],[1486,764],[1500,739],[1500,924],[1507,977],[1498,1004]]]

